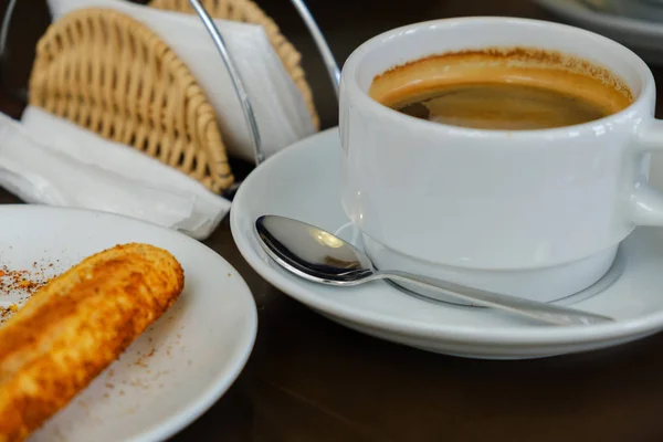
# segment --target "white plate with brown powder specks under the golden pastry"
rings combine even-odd
[[[0,263],[54,263],[60,273],[118,243],[146,242],[175,255],[185,290],[172,307],[31,441],[157,441],[211,407],[253,347],[256,311],[240,274],[206,245],[108,213],[0,206]],[[11,299],[0,294],[0,303]]]

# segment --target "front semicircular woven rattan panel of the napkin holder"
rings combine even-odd
[[[106,9],[74,11],[36,48],[29,103],[172,166],[214,192],[233,183],[212,106],[155,33]]]

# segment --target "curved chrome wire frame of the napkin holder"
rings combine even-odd
[[[257,127],[257,122],[255,119],[255,113],[253,112],[253,107],[251,105],[251,99],[246,94],[246,90],[244,87],[244,83],[242,81],[241,75],[239,74],[235,64],[232,60],[232,55],[228,51],[228,46],[225,45],[225,41],[219,32],[219,29],[214,24],[214,21],[204,9],[204,7],[200,3],[199,0],[188,0],[203,25],[206,27],[210,38],[214,42],[217,46],[217,51],[221,59],[223,60],[223,64],[230,74],[230,78],[232,82],[232,86],[235,91],[238,99],[242,105],[242,112],[244,114],[244,120],[246,122],[246,126],[251,134],[251,143],[253,147],[253,156],[255,160],[255,166],[260,166],[265,160],[265,155],[263,151],[263,146],[260,137],[260,130]],[[7,65],[7,43],[9,38],[9,28],[11,24],[11,18],[13,15],[13,11],[15,9],[18,0],[9,0],[7,4],[7,9],[4,10],[4,17],[2,18],[2,27],[0,28],[0,63],[2,64],[2,69],[6,69]],[[329,75],[329,80],[332,81],[332,85],[334,86],[334,92],[336,93],[336,98],[338,99],[338,90],[340,83],[340,70],[338,64],[336,63],[334,55],[332,54],[332,50],[329,49],[329,44],[325,40],[323,33],[320,32],[317,23],[315,22],[311,11],[306,7],[304,0],[291,0],[297,13],[304,20],[308,32],[313,36],[315,44],[325,62],[325,66],[327,69],[327,73]],[[238,183],[239,185],[239,183]],[[233,187],[236,189],[236,186]]]

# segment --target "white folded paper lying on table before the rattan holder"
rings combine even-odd
[[[119,213],[203,240],[230,201],[128,146],[28,106],[0,114],[0,186],[28,203]]]

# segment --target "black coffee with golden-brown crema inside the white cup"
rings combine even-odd
[[[378,75],[369,95],[413,117],[502,130],[588,123],[633,102],[631,91],[611,72],[533,49],[429,56]]]

